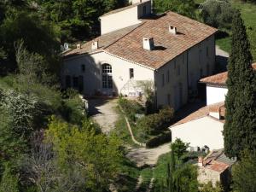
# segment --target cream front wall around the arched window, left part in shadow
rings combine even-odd
[[[102,89],[102,64],[104,63],[108,63],[112,66],[113,92],[115,93],[119,94],[120,90],[130,79],[130,68],[134,69],[134,80],[154,81],[154,70],[139,66],[130,61],[119,59],[108,53],[100,52],[93,55],[82,55],[65,60],[62,70],[62,85],[64,87],[66,86],[66,75],[83,75],[84,95],[94,95],[96,91],[110,91]],[[85,65],[85,73],[81,72],[82,64]]]

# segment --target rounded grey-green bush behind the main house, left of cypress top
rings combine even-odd
[[[224,0],[207,0],[201,5],[201,18],[209,26],[230,29],[234,9]]]

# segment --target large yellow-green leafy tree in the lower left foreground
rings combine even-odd
[[[81,172],[83,190],[108,189],[108,184],[119,171],[123,155],[117,137],[96,134],[90,121],[79,128],[55,118],[50,121],[46,137],[46,141],[53,143],[62,172]]]

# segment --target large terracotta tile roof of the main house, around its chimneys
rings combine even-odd
[[[173,12],[142,19],[141,21],[141,25],[134,27],[130,32],[124,32],[123,35],[119,35],[119,38],[113,35],[114,40],[109,38],[113,38],[112,33],[115,34],[116,32],[106,34],[105,38],[113,44],[102,49],[126,60],[151,68],[159,68],[217,32],[217,29],[211,26]],[[177,26],[176,35],[169,32],[169,25]],[[154,49],[151,51],[143,49],[143,38],[147,36],[154,38]],[[73,52],[68,52],[66,55],[90,52],[90,43],[83,45],[83,47],[89,47],[89,49],[84,49],[84,51],[73,50]]]

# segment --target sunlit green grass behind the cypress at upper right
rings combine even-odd
[[[251,43],[253,60],[256,61],[256,4],[243,3],[236,0],[232,0],[231,3],[236,9],[241,10],[241,17],[245,26],[247,26],[247,35]],[[230,37],[217,39],[216,44],[230,53]]]

